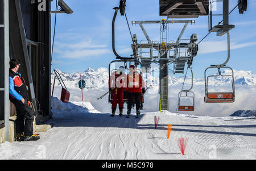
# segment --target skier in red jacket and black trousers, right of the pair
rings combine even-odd
[[[141,114],[141,93],[145,93],[145,85],[144,80],[136,71],[134,65],[131,65],[129,68],[129,74],[127,75],[127,90],[129,91],[129,101],[127,105],[127,118],[130,117],[131,114],[131,106],[133,105],[133,99],[135,97],[136,103],[136,114],[137,118],[139,114]]]

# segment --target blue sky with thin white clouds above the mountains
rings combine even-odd
[[[63,72],[84,72],[87,68],[108,68],[109,62],[115,59],[112,52],[112,18],[113,7],[119,5],[119,0],[65,0],[74,11],[73,14],[57,14],[55,47],[53,51],[52,69]],[[230,0],[230,10],[237,5],[237,0]],[[231,59],[228,66],[236,70],[252,70],[256,73],[256,2],[248,1],[245,14],[239,14],[238,9],[230,14],[230,24],[236,28],[230,31]],[[55,0],[52,10],[55,9]],[[217,6],[216,13],[220,12]],[[132,20],[160,20],[158,0],[127,0],[127,18],[131,26]],[[52,14],[52,35],[54,26]],[[165,18],[166,19],[166,18]],[[193,33],[201,40],[208,34],[208,17],[200,16],[196,24],[185,30],[183,39],[189,39]],[[220,18],[214,18],[216,23]],[[125,18],[118,14],[116,20],[116,49],[121,56],[130,56],[131,37]],[[159,25],[144,26],[151,40],[159,41]],[[170,40],[176,40],[183,24],[169,25]],[[132,34],[137,34],[138,40],[145,37],[141,28],[131,26]],[[226,35],[217,37],[210,34],[199,44],[199,53],[193,61],[195,77],[203,78],[204,70],[211,64],[220,64],[226,60]],[[171,65],[172,66],[172,65]],[[181,76],[181,74],[180,74]]]

